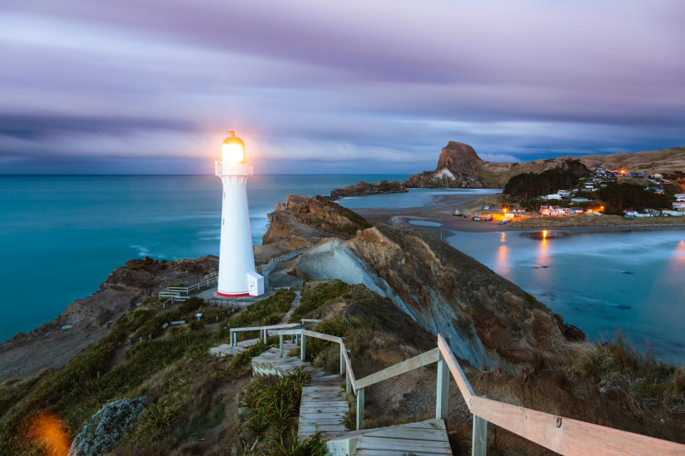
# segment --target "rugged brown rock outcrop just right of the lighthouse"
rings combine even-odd
[[[254,248],[258,263],[283,252],[310,247],[327,237],[350,239],[358,230],[371,227],[364,217],[318,195],[288,195],[285,203],[276,204],[268,217],[269,227],[262,245]]]

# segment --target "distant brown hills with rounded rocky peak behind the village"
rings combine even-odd
[[[450,141],[443,147],[434,171],[412,175],[402,184],[410,188],[502,188],[517,174],[543,172],[563,165],[568,160],[579,160],[589,169],[601,165],[612,170],[625,168],[644,171],[649,175],[659,173],[685,183],[685,147],[611,155],[567,156],[531,162],[486,162],[478,157],[470,145]]]

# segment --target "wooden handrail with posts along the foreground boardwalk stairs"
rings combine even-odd
[[[278,335],[281,357],[283,357],[283,336],[299,336],[300,357],[303,361],[305,360],[306,338],[308,336],[338,343],[340,346],[340,375],[345,375],[347,393],[354,393],[357,397],[357,430],[361,429],[363,425],[365,388],[422,366],[437,363],[435,418],[447,418],[451,373],[462,398],[464,398],[473,415],[471,454],[474,456],[485,456],[486,454],[487,423],[503,427],[514,434],[565,456],[685,455],[685,445],[679,443],[538,412],[476,395],[442,334],[437,336],[436,348],[359,380],[355,378],[355,373],[352,371],[350,354],[345,348],[343,338],[301,328],[281,330],[278,331]]]

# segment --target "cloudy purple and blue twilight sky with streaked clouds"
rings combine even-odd
[[[4,0],[0,174],[420,172],[685,145],[685,1]]]

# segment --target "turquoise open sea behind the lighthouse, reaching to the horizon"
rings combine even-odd
[[[359,180],[407,175],[261,175],[248,184],[261,244],[285,195],[328,195]],[[218,254],[214,176],[0,176],[0,341],[55,318],[129,259]]]

